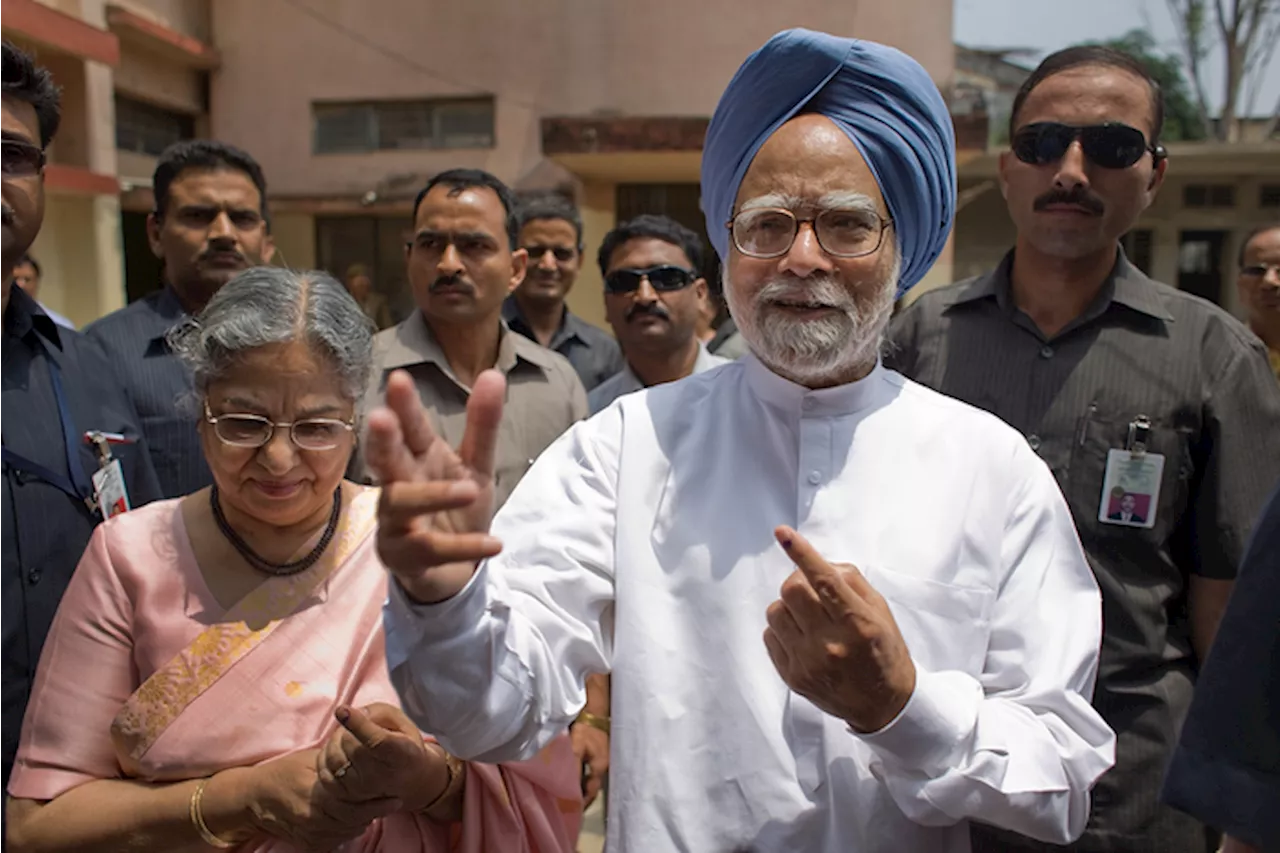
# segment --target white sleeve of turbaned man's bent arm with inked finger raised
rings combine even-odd
[[[922,672],[899,719],[864,742],[913,821],[980,820],[1065,844],[1115,761],[1115,734],[1089,704],[1102,610],[1057,484],[1015,451],[1025,457],[1010,467],[1028,475],[1010,501],[980,676]]]

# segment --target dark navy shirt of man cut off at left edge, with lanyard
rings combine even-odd
[[[10,286],[0,336],[0,442],[69,475],[50,360],[58,364],[76,434],[102,430],[132,438],[134,443],[113,447],[129,500],[141,506],[159,498],[137,414],[102,351],[58,328],[17,286]],[[97,470],[87,442],[79,455],[86,473]],[[13,767],[45,635],[97,523],[82,501],[0,462],[0,783],[8,784]]]

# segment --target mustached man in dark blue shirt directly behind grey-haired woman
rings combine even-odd
[[[142,432],[166,498],[212,483],[193,410],[191,377],[165,334],[198,314],[241,270],[271,261],[266,179],[244,151],[212,140],[170,146],[151,182],[151,251],[163,263],[163,287],[97,320],[84,334],[106,350],[142,416]]]

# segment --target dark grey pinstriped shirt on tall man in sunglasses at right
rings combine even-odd
[[[1202,853],[1199,827],[1158,803],[1196,672],[1188,576],[1235,576],[1280,480],[1280,386],[1240,323],[1123,254],[1093,305],[1052,338],[1014,305],[1011,264],[1012,254],[922,296],[895,319],[886,361],[1020,430],[1071,507],[1102,590],[1094,706],[1119,738],[1076,849]],[[1149,530],[1098,521],[1107,451],[1125,447],[1140,415],[1148,451],[1165,456]],[[991,838],[975,830],[974,849],[1048,849]]]

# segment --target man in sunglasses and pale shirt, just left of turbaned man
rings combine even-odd
[[[701,242],[675,219],[652,214],[605,234],[604,314],[627,365],[586,396],[593,415],[622,394],[728,364],[696,334],[707,305],[707,280],[698,274]]]

